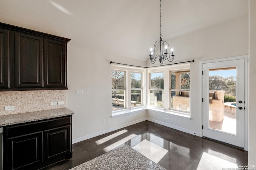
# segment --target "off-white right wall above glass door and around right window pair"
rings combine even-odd
[[[162,37],[164,38],[164,37]],[[248,16],[207,27],[168,41],[174,48],[173,63],[195,60],[190,64],[191,120],[148,111],[148,118],[188,133],[200,133],[200,61],[248,55]],[[150,60],[148,66],[153,65]],[[159,63],[155,63],[159,64]],[[164,64],[168,64],[165,62]],[[168,122],[164,118],[168,118]]]

